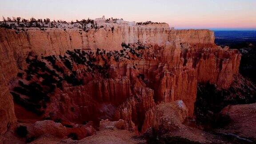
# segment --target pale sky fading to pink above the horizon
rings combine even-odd
[[[0,16],[82,20],[123,18],[177,29],[256,30],[256,0],[0,0]]]

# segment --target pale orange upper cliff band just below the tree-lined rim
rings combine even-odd
[[[209,30],[169,30],[166,28],[115,26],[113,32],[110,27],[90,30],[48,28],[41,31],[29,28],[26,32],[16,34],[14,30],[0,28],[1,69],[8,80],[14,78],[18,68],[25,68],[25,58],[28,52],[38,55],[63,55],[74,48],[91,48],[120,50],[121,44],[136,43],[163,46],[166,41],[180,40],[180,43],[214,44],[214,35]],[[115,43],[113,43],[115,41]],[[179,45],[179,44],[177,44]],[[4,67],[11,65],[10,68]]]

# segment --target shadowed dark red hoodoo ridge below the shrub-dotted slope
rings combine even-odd
[[[93,80],[56,93],[51,96],[46,115],[52,112],[55,119],[76,123],[99,122],[100,119],[112,119],[114,109],[130,97],[130,81],[125,78]]]

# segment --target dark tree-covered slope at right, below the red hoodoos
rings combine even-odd
[[[229,104],[252,104],[256,102],[256,88],[241,76],[228,89],[216,88],[214,84],[198,84],[195,115],[198,124],[206,129],[222,128],[230,122],[228,115],[219,112]]]

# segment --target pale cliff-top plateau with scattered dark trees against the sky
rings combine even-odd
[[[41,30],[45,30],[45,28],[79,28],[83,29],[85,32],[88,32],[90,29],[99,29],[104,27],[114,27],[115,25],[127,25],[127,26],[145,26],[145,27],[161,27],[161,28],[169,28],[169,25],[166,23],[158,23],[152,21],[146,22],[129,22],[123,19],[113,19],[108,18],[105,19],[105,16],[102,18],[92,19],[83,19],[67,22],[64,20],[53,20],[51,21],[49,18],[46,19],[35,19],[30,18],[30,20],[26,20],[21,17],[3,17],[3,21],[0,21],[0,28],[9,28],[15,30],[22,30],[24,28],[40,28]],[[172,28],[173,29],[173,28]]]

